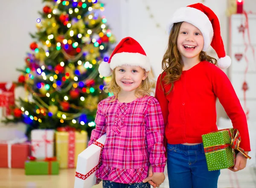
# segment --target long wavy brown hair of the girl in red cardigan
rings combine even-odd
[[[169,35],[169,42],[168,47],[166,49],[165,54],[163,55],[162,60],[162,69],[163,72],[160,77],[161,87],[163,89],[162,80],[165,84],[172,84],[171,89],[165,94],[168,95],[173,87],[174,82],[180,78],[183,68],[183,62],[180,56],[180,52],[178,51],[177,47],[177,38],[180,32],[180,26],[183,22],[174,23],[172,30]],[[201,51],[199,54],[200,61],[208,61],[212,64],[217,64],[217,60],[212,58],[211,56],[207,55],[206,52]],[[165,77],[163,78],[163,73],[166,73]],[[164,91],[164,89],[163,89]]]

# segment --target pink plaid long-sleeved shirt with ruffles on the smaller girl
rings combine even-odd
[[[142,182],[148,176],[150,164],[153,172],[163,172],[164,123],[157,99],[145,96],[130,103],[110,102],[111,99],[99,102],[96,129],[88,143],[91,145],[107,133],[96,177],[119,183]]]

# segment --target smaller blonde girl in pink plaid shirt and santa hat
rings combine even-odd
[[[122,39],[109,61],[99,66],[101,75],[112,74],[106,88],[114,94],[99,102],[89,142],[107,134],[96,172],[103,188],[149,188],[142,181],[150,166],[156,185],[165,179],[164,122],[158,101],[150,96],[149,71],[143,48],[130,37]]]

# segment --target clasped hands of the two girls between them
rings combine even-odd
[[[153,168],[150,165],[148,168],[148,177],[143,179],[143,183],[148,182],[154,188],[159,187],[163,183],[165,175],[163,173],[153,173]]]

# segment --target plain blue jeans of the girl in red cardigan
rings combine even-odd
[[[217,188],[220,170],[208,171],[203,144],[167,145],[169,188]]]

